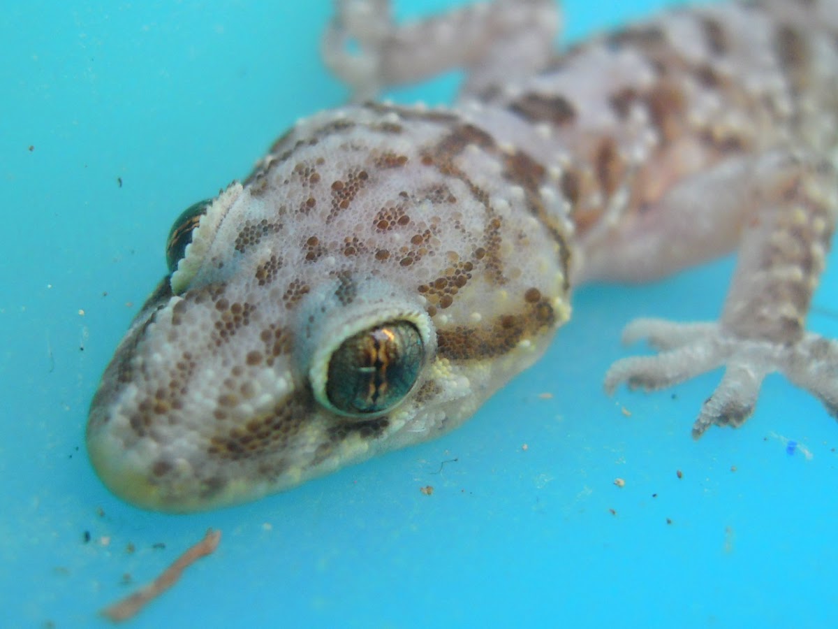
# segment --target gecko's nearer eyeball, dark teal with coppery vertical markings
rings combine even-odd
[[[350,336],[328,361],[326,397],[343,413],[396,406],[416,384],[424,348],[416,326],[391,321]]]

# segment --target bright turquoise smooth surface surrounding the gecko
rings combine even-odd
[[[398,6],[404,18],[447,4]],[[573,0],[566,33],[663,4]],[[330,7],[8,5],[0,626],[103,626],[98,610],[209,527],[218,551],[134,626],[835,626],[838,426],[820,404],[770,377],[750,422],[696,443],[718,373],[602,391],[627,353],[622,326],[715,317],[731,260],[583,289],[548,355],[443,439],[199,515],[111,496],[85,455],[96,382],[165,271],[173,218],[246,175],[297,117],[344,100],[318,60]],[[455,81],[393,96],[449,101]],[[836,336],[831,262],[810,325]]]

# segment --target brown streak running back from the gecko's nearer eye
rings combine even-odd
[[[488,325],[457,325],[437,330],[437,353],[451,361],[482,360],[515,349],[521,340],[553,325],[556,314],[546,299],[527,302],[518,314],[504,314]]]

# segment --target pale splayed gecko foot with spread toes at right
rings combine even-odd
[[[693,424],[693,437],[716,424],[734,428],[751,416],[763,379],[781,372],[815,395],[838,417],[838,342],[806,333],[794,343],[742,338],[717,323],[675,323],[658,319],[634,320],[623,330],[623,341],[648,340],[655,356],[620,359],[608,369],[605,390],[611,394],[621,382],[646,391],[671,387],[719,366],[722,382],[707,398]]]

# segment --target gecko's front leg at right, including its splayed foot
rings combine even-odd
[[[771,372],[783,373],[838,415],[838,342],[804,329],[838,214],[835,169],[825,160],[771,153],[729,173],[721,179],[726,185],[752,183],[747,194],[727,196],[748,206],[729,208],[743,220],[737,270],[720,320],[635,320],[624,340],[645,338],[660,354],[624,358],[605,377],[608,392],[620,382],[652,390],[725,366],[693,425],[695,437],[711,424],[741,425]],[[725,198],[715,192],[705,191],[706,203]]]

